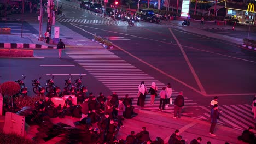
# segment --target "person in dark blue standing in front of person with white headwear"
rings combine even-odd
[[[217,119],[219,119],[218,105],[213,105],[213,109],[211,110],[211,127],[209,131],[209,134],[211,136],[216,136],[215,134],[213,134],[213,132],[217,123]]]

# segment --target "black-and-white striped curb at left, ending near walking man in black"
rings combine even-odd
[[[40,45],[40,44],[24,44],[24,43],[0,43],[0,48],[11,48],[11,49],[56,49],[57,47]]]

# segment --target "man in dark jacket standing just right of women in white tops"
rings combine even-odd
[[[184,106],[184,97],[183,97],[183,92],[179,92],[179,95],[176,97],[174,100],[174,117],[180,119],[181,118],[181,110]],[[178,115],[178,116],[177,116]]]

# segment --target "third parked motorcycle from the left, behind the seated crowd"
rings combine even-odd
[[[48,93],[48,96],[53,97],[57,96],[59,97],[60,87],[57,87],[54,85],[54,76],[51,76],[51,79],[46,80],[46,92]]]

